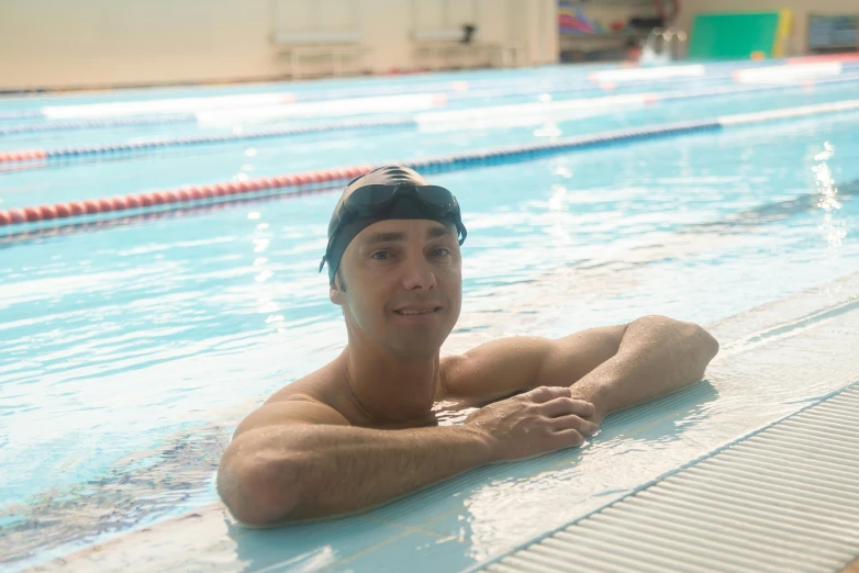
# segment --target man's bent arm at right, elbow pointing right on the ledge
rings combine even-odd
[[[497,400],[537,386],[570,386],[606,414],[701,380],[718,342],[692,323],[645,316],[557,340],[516,337],[449,357],[450,394]]]

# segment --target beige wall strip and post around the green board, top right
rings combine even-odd
[[[682,12],[677,24],[683,30],[692,30],[692,20],[699,12],[750,12],[780,10],[793,11],[793,26],[785,55],[806,53],[808,40],[808,14],[856,14],[859,12],[857,0],[683,0]],[[694,33],[694,30],[692,30]]]

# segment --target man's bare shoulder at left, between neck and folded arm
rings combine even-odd
[[[252,429],[292,424],[348,426],[337,401],[338,379],[334,362],[292,382],[271,395],[236,428],[234,437]]]

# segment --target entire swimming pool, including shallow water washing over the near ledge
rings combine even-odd
[[[443,106],[477,114],[495,103],[545,102],[546,96],[604,97],[596,87],[566,96],[560,90],[498,96],[539,82],[584,85],[590,71],[454,74],[392,85],[406,96],[426,85],[453,94],[462,91],[454,82],[479,81],[494,96],[451,97]],[[693,87],[687,80],[623,91],[677,94],[730,86],[721,71]],[[0,173],[0,210],[838,102],[851,99],[856,85],[82,158]],[[288,89],[334,99],[365,97],[378,86],[372,79]],[[271,88],[217,93],[264,89]],[[213,94],[202,88],[169,92]],[[121,98],[164,96],[140,90]],[[75,97],[74,103],[112,98]],[[71,102],[63,97],[9,100],[0,102],[0,112],[66,103]],[[410,113],[433,111],[439,110]],[[48,120],[4,120],[0,126],[43,121]],[[322,114],[265,125],[330,121]],[[815,115],[435,176],[459,198],[469,228],[464,312],[446,350],[498,336],[559,336],[654,313],[714,324],[821,284],[841,284],[833,281],[859,271],[858,122],[857,112]],[[254,127],[185,122],[22,132],[0,137],[0,150],[237,128]],[[215,499],[213,471],[237,420],[276,389],[333,358],[345,341],[324,274],[315,272],[335,198],[319,193],[234,204],[0,245],[2,562],[22,569],[156,523],[182,536],[181,525],[169,519]],[[213,544],[234,540],[215,551],[219,566],[230,570],[397,571],[404,562],[398,560],[420,569],[415,559],[443,560],[433,564],[458,570],[844,383],[781,387],[773,381],[776,391],[761,397],[725,380],[727,385],[695,386],[661,411],[651,406],[648,424],[606,424],[577,452],[471,472],[360,518],[257,533],[235,532],[233,525],[221,530],[223,519],[215,519],[221,529],[187,532]],[[747,419],[730,415],[732,408],[751,406]],[[561,494],[568,504],[558,508],[555,496]]]

